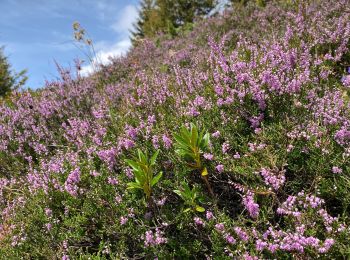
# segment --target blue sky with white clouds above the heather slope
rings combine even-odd
[[[138,0],[0,0],[0,46],[16,71],[28,69],[30,88],[58,76],[55,61],[73,67],[87,60],[74,45],[78,21],[94,42],[102,62],[130,47],[129,30],[137,19]],[[89,71],[85,66],[84,71]]]

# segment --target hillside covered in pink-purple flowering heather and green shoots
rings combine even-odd
[[[349,8],[237,7],[3,101],[1,256],[349,257]]]

